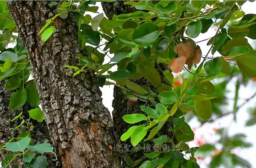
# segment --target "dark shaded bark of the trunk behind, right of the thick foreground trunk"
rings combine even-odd
[[[127,14],[132,12],[132,9],[130,7],[128,7],[128,5],[124,5],[124,1],[116,1],[116,2],[102,2],[102,8],[106,14],[106,16],[108,17],[108,19],[112,19],[113,15],[120,15],[120,14]],[[166,70],[167,69],[167,65],[166,64],[159,64],[162,70]],[[162,70],[160,70],[159,66],[156,65],[155,68],[158,70],[158,72],[160,73],[160,76],[162,76],[162,83],[164,82],[163,79],[163,74],[162,74]],[[137,84],[139,84],[140,86],[148,86],[153,92],[157,92],[157,88],[154,88],[154,86],[152,86],[152,84],[150,84],[150,82],[148,80],[146,80],[145,78],[141,78],[140,80],[135,80],[133,81]],[[112,115],[113,115],[113,121],[115,124],[115,128],[116,128],[116,134],[118,135],[118,138],[121,137],[121,135],[126,132],[132,125],[128,124],[126,122],[124,122],[124,120],[122,119],[122,116],[126,115],[126,114],[133,114],[133,113],[143,113],[145,114],[143,111],[141,111],[140,106],[141,105],[146,105],[146,106],[150,106],[152,108],[155,108],[151,103],[147,103],[147,102],[142,102],[140,100],[138,100],[138,102],[136,103],[136,105],[134,107],[128,107],[128,100],[124,99],[124,94],[122,92],[122,90],[118,87],[114,87],[114,100],[112,103],[112,106],[114,108],[114,110],[112,111]],[[135,124],[137,125],[137,124]],[[163,128],[159,131],[160,135],[169,135],[169,137],[172,137],[172,133],[170,133],[168,131],[168,128],[171,127],[170,123],[166,123]],[[128,142],[126,142],[128,143]],[[148,141],[148,144],[153,145],[150,141]],[[129,144],[131,145],[131,144]],[[132,145],[131,145],[132,147]],[[127,152],[123,153],[128,154]],[[133,153],[129,155],[131,158],[133,158],[133,160],[142,158],[142,156],[144,156],[143,152],[137,152],[137,153]],[[122,157],[122,163],[123,163],[123,167],[126,166],[126,161],[124,160],[124,157]]]

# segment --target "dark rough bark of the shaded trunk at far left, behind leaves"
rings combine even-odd
[[[0,145],[4,146],[12,137],[18,137],[19,131],[27,131],[26,129],[18,129],[12,131],[16,126],[20,125],[21,120],[17,119],[15,121],[11,121],[15,116],[20,114],[23,111],[22,118],[28,121],[29,115],[28,111],[32,109],[29,104],[25,104],[22,108],[18,110],[10,110],[9,102],[10,96],[14,94],[15,91],[8,91],[4,89],[5,80],[0,81]],[[32,125],[34,125],[34,129],[31,130],[31,137],[35,143],[44,143],[48,141],[52,144],[51,139],[49,139],[50,134],[46,125],[46,122],[43,121],[39,123],[35,120],[30,120]],[[56,152],[56,151],[55,151]],[[0,150],[0,160],[4,160],[5,156],[10,154],[7,150]],[[58,154],[58,152],[56,152]],[[51,165],[52,168],[61,168],[60,158],[56,159],[54,156],[47,156],[48,165]],[[22,165],[22,157],[16,158],[10,167],[14,165]]]

